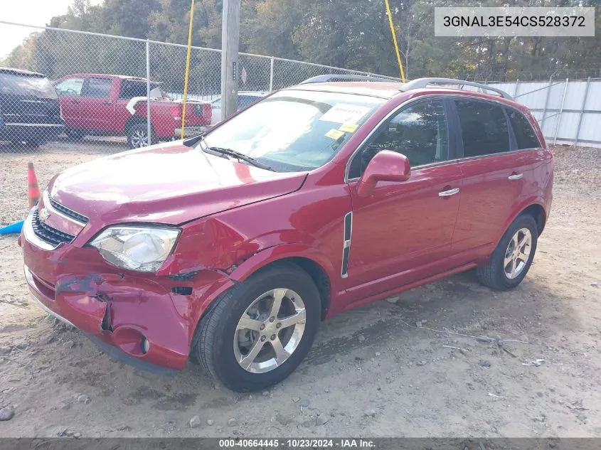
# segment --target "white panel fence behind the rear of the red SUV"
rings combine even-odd
[[[601,78],[489,84],[531,110],[548,145],[601,148]]]

